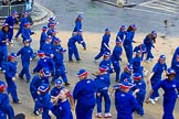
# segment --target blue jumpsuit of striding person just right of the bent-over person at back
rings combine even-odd
[[[104,44],[106,44],[109,47],[109,40],[110,40],[110,34],[104,35],[101,44],[101,52],[95,56],[95,61],[101,58],[105,52],[110,52]]]

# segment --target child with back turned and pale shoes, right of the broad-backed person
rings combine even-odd
[[[110,77],[107,73],[108,67],[102,65],[99,68],[99,74],[95,78],[95,88],[96,88],[96,104],[97,104],[97,118],[102,118],[102,99],[105,100],[105,118],[110,118],[110,97],[108,95],[108,88],[110,86]]]

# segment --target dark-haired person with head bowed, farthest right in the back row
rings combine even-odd
[[[149,60],[154,58],[154,55],[151,53],[151,47],[155,48],[154,43],[156,43],[156,39],[157,39],[156,31],[151,31],[151,33],[144,39],[144,44],[146,45],[146,53],[147,53],[146,62],[149,62]]]

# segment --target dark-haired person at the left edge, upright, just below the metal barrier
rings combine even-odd
[[[2,25],[0,31],[0,69],[6,73],[6,63],[8,57],[8,48],[7,43],[10,41],[8,40],[9,34],[9,24],[6,23]]]

